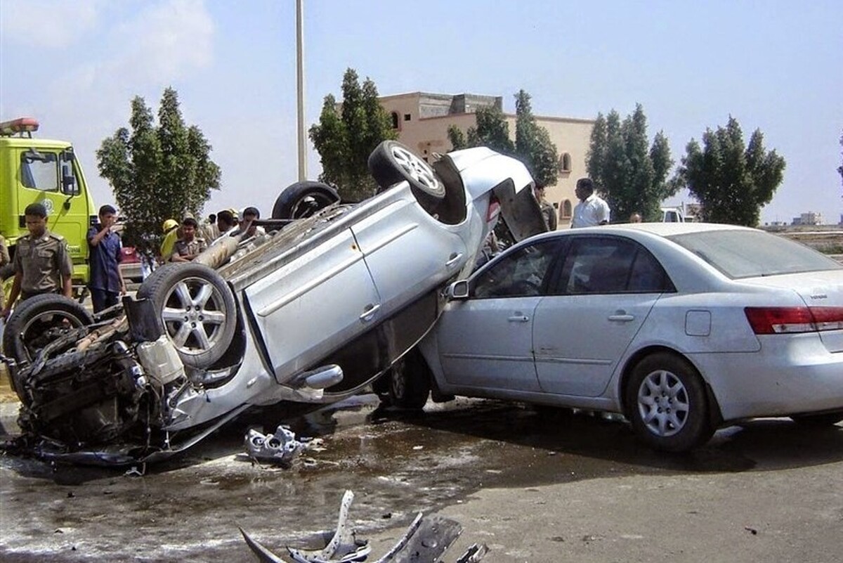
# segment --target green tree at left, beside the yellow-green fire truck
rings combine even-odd
[[[211,190],[219,189],[211,148],[197,126],[185,126],[175,89],[164,90],[158,126],[144,100],[132,99],[129,128],[105,138],[96,153],[99,174],[127,219],[127,244],[153,254],[165,219],[199,215]]]

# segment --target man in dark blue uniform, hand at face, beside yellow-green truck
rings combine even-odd
[[[102,206],[99,208],[99,226],[88,231],[91,265],[88,287],[94,302],[94,313],[116,305],[120,295],[126,293],[126,282],[120,271],[120,236],[114,232],[116,221],[115,208]]]

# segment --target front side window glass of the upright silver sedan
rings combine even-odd
[[[547,273],[561,243],[543,240],[498,260],[476,277],[475,298],[532,297],[545,291]]]

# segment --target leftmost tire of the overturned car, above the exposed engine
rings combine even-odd
[[[67,319],[69,326],[64,325]],[[35,350],[51,340],[51,329],[75,329],[94,322],[79,303],[63,295],[46,293],[18,303],[3,330],[3,353],[16,362],[30,362]]]

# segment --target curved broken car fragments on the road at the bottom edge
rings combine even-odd
[[[287,546],[287,554],[297,563],[349,563],[368,560],[372,548],[367,540],[357,539],[348,526],[348,510],[352,506],[354,493],[346,491],[340,503],[340,515],[337,518],[336,531],[330,541],[321,550],[301,550]],[[240,534],[262,563],[283,563],[283,559],[272,553],[259,541],[252,538],[243,528]],[[450,518],[419,512],[398,539],[383,556],[374,563],[436,563],[459,538],[462,526]],[[456,563],[475,563],[483,558],[489,549],[486,544],[472,544]]]

